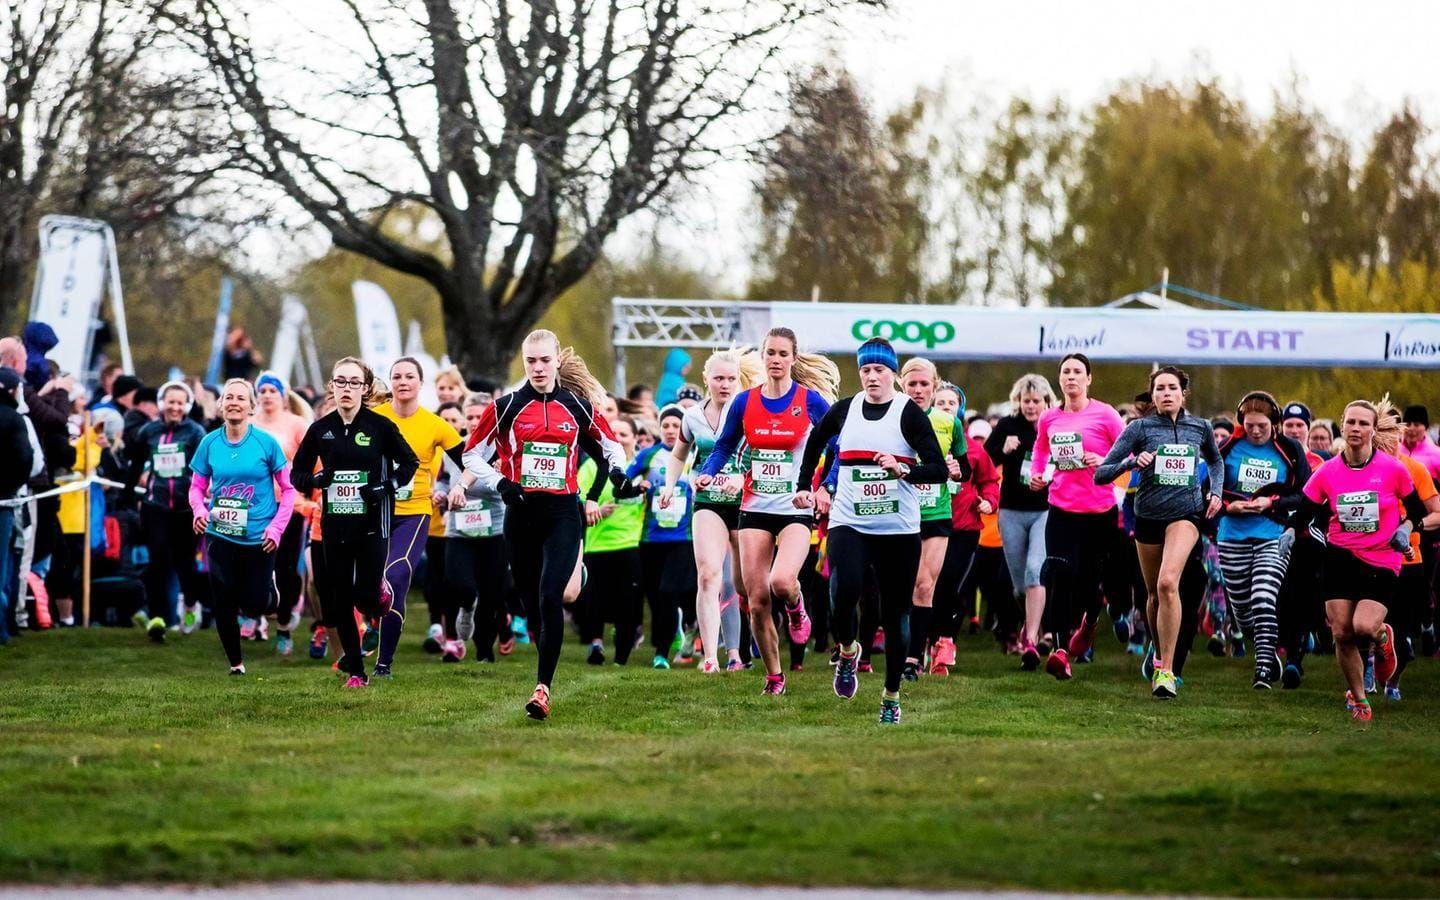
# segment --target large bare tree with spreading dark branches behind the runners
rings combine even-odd
[[[216,76],[233,166],[433,285],[451,356],[497,377],[626,216],[747,143],[740,114],[788,40],[884,3],[325,0],[295,13],[325,23],[310,58],[222,0],[176,24]],[[402,204],[433,213],[448,253],[386,229]]]

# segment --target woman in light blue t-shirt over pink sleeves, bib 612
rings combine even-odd
[[[225,426],[206,435],[190,461],[194,533],[209,540],[215,631],[232,675],[245,674],[239,616],[259,618],[275,608],[275,549],[295,508],[285,452],[251,426],[253,412],[255,387],[245,379],[226,382]]]

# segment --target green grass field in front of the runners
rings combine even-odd
[[[1361,733],[1331,658],[1256,693],[1246,662],[1197,655],[1159,703],[1113,638],[1070,684],[973,638],[883,730],[878,674],[842,703],[812,658],[770,698],[755,672],[592,668],[567,636],[539,724],[533,649],[441,665],[420,632],[356,693],[258,645],[229,678],[213,632],[0,648],[0,883],[1440,894],[1431,660]]]

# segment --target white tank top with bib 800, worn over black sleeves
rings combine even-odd
[[[829,524],[850,526],[864,534],[919,534],[920,497],[914,487],[870,462],[877,454],[890,454],[914,465],[914,448],[900,431],[900,418],[910,399],[897,393],[886,415],[874,422],[865,419],[864,403],[864,393],[851,397],[840,426],[837,462],[857,462],[840,467]]]

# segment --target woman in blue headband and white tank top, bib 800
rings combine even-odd
[[[880,583],[886,629],[886,687],[880,724],[900,723],[900,681],[906,668],[906,616],[920,567],[920,495],[916,484],[942,484],[950,477],[930,416],[896,395],[900,361],[890,341],[873,337],[855,353],[863,392],[838,400],[805,442],[799,484],[809,485],[819,456],[835,444],[834,503],[828,487],[795,494],[796,508],[829,514],[832,629],[840,642],[835,696],[855,696],[860,644],[855,611],[865,572]],[[753,596],[753,595],[752,595]]]

